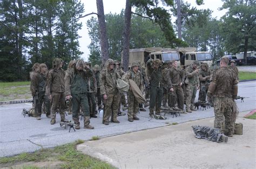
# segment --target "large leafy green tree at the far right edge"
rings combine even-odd
[[[222,17],[223,24],[221,25],[225,34],[226,50],[230,53],[243,51],[244,59],[247,62],[248,47],[255,49],[255,44],[252,44],[256,35],[255,1],[225,0],[222,9],[228,9],[226,15]]]

